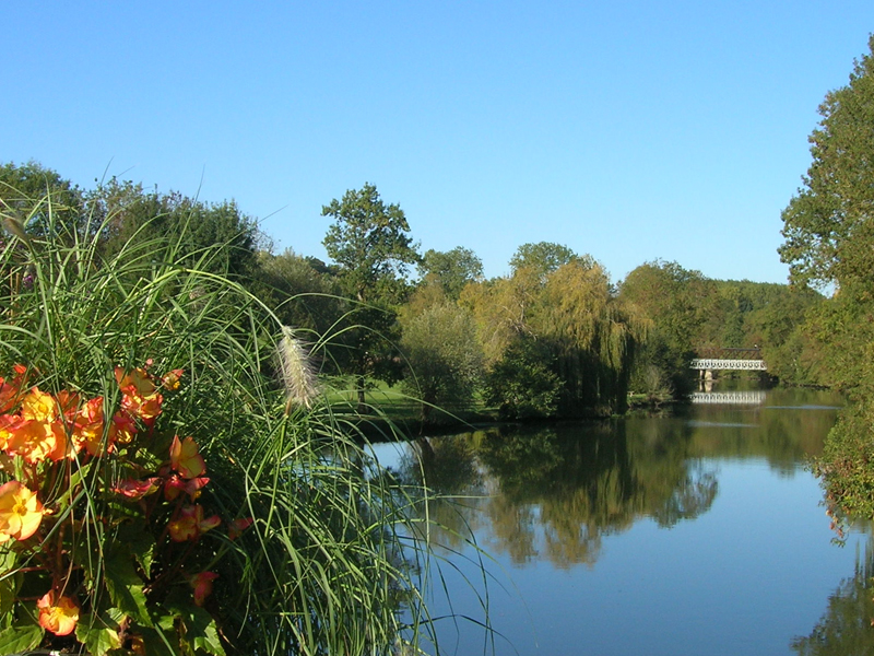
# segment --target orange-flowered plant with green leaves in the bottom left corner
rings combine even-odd
[[[182,371],[150,365],[113,398],[0,377],[0,653],[224,654],[211,567],[251,520],[214,530],[197,442],[157,427]]]

